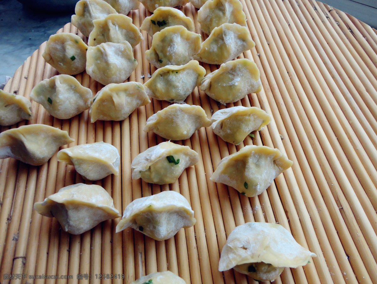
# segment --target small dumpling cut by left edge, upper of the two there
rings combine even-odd
[[[31,119],[31,102],[24,96],[0,90],[0,125],[8,126]]]

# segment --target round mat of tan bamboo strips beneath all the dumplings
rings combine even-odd
[[[4,159],[0,161],[1,283],[128,284],[164,270],[186,283],[254,283],[233,270],[218,271],[227,236],[235,226],[250,221],[279,222],[317,254],[304,267],[285,269],[274,283],[377,283],[377,32],[313,0],[241,2],[256,43],[241,58],[256,62],[263,91],[224,106],[196,89],[186,103],[201,105],[208,117],[219,108],[256,106],[273,120],[238,146],[225,143],[211,128],[178,141],[198,152],[199,163],[187,168],[174,184],[132,180],[130,169],[137,154],[164,141],[145,133],[143,127],[168,102],[153,99],[124,121],[96,123],[90,123],[88,111],[60,120],[32,102],[33,120],[12,126],[58,127],[75,139],[69,147],[111,143],[121,154],[121,175],[95,184],[112,195],[119,211],[133,199],[174,190],[192,205],[195,226],[166,241],[155,241],[132,229],[115,233],[118,218],[82,235],[70,235],[55,218],[37,214],[33,204],[61,187],[84,182],[81,176],[72,166],[58,163],[56,154],[39,167]],[[197,9],[189,4],[181,11],[195,21],[200,33]],[[143,5],[129,14],[138,27],[149,15]],[[68,23],[58,32],[62,31],[77,29]],[[140,83],[156,70],[144,58],[151,38],[144,31],[143,36],[135,47],[138,66],[128,79]],[[29,98],[33,86],[57,74],[41,57],[45,44],[17,69],[5,91]],[[218,68],[203,66],[207,73]],[[76,78],[93,95],[103,87],[86,73]],[[252,143],[279,148],[293,166],[254,198],[209,180],[223,157]],[[123,274],[124,279],[98,279],[101,273]],[[3,279],[4,275],[15,279]],[[72,279],[29,279],[33,275],[72,275]]]

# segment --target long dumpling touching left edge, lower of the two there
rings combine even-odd
[[[60,146],[74,141],[67,131],[52,126],[23,125],[0,133],[0,159],[11,157],[39,166],[46,163]]]

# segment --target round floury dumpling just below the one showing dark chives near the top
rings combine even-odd
[[[170,26],[153,35],[152,47],[145,52],[146,59],[157,68],[166,65],[184,65],[202,48],[199,34],[184,26]]]

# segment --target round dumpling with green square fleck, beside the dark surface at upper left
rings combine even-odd
[[[49,37],[42,57],[59,73],[75,75],[85,70],[87,48],[78,35],[62,32]]]

